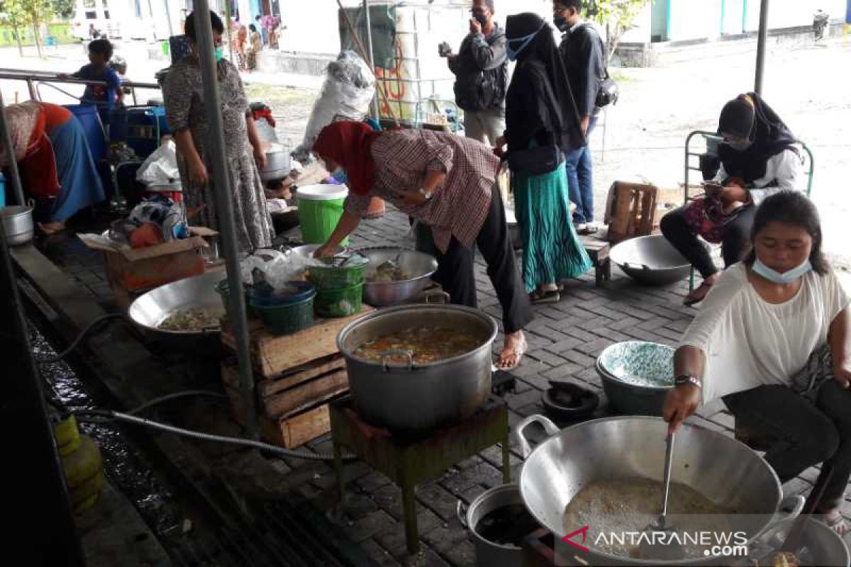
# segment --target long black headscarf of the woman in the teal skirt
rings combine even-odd
[[[576,110],[568,75],[550,26],[539,15],[531,12],[510,15],[505,20],[505,39],[508,42],[532,33],[536,35],[518,55],[517,64],[535,63],[537,65],[534,67],[543,69],[551,93],[556,98],[548,101],[552,115],[558,122],[552,124],[553,131],[561,133],[563,150],[580,148],[585,145],[585,136],[580,127],[579,111]]]

